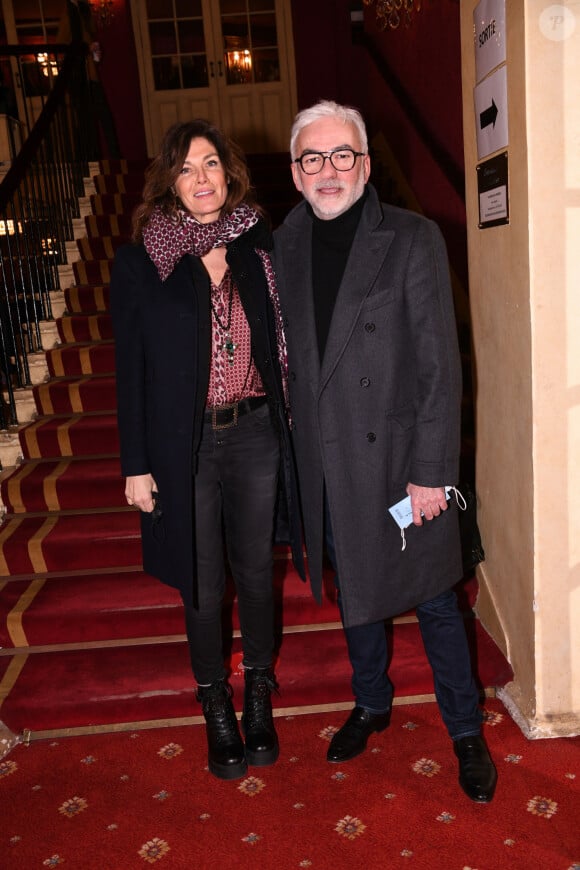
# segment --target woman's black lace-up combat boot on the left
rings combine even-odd
[[[206,722],[207,760],[218,779],[238,779],[248,770],[244,744],[232,704],[232,690],[225,680],[197,687],[197,700]]]

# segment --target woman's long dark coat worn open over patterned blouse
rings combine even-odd
[[[250,326],[253,358],[281,442],[278,540],[290,541],[304,577],[300,520],[273,308],[255,248],[269,247],[261,222],[227,246]],[[165,282],[143,245],[124,245],[111,276],[118,424],[124,476],[152,474],[162,515],[141,514],[143,567],[197,603],[194,474],[209,383],[209,277],[185,256]]]

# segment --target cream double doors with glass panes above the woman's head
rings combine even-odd
[[[131,0],[147,149],[207,118],[248,152],[287,151],[296,111],[289,0]]]

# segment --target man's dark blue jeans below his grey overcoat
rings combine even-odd
[[[334,537],[330,512],[325,500],[325,539],[331,564],[336,572],[338,606],[341,607],[340,580],[336,570]],[[479,734],[481,711],[463,617],[453,589],[416,607],[417,619],[427,658],[433,671],[435,697],[452,740]],[[343,620],[344,623],[344,620]],[[384,622],[345,627],[344,633],[352,666],[355,703],[372,713],[385,713],[393,702],[393,685],[388,678],[388,646]]]

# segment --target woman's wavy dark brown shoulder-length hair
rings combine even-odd
[[[143,202],[133,213],[133,241],[143,240],[143,227],[156,206],[171,217],[178,217],[182,208],[173,185],[183,168],[192,139],[207,139],[214,146],[228,181],[228,195],[222,215],[229,214],[245,202],[260,211],[250,184],[250,174],[242,149],[221,130],[203,118],[173,124],[165,133],[161,151],[145,172]]]

